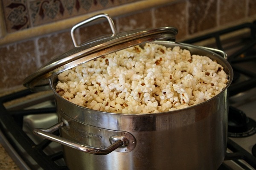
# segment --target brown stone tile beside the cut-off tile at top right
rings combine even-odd
[[[246,0],[220,0],[219,22],[224,25],[245,18]]]

